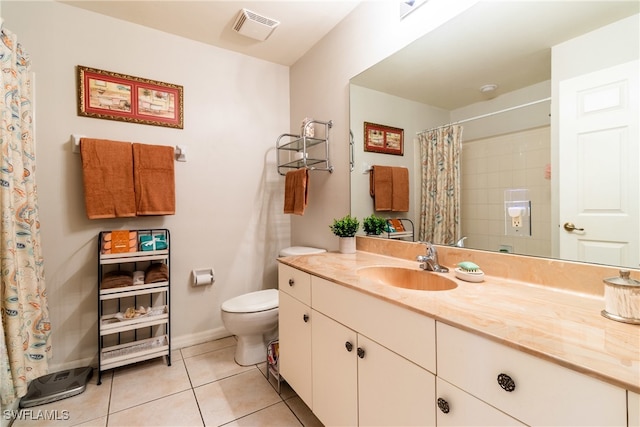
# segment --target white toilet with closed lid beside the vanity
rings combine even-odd
[[[310,255],[324,249],[292,246],[280,256]],[[242,366],[266,360],[267,344],[278,338],[278,290],[249,292],[222,303],[222,323],[238,338],[235,360]]]

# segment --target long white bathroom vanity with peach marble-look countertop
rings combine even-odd
[[[281,373],[324,424],[640,423],[640,328],[602,317],[601,296],[453,273],[453,289],[405,289],[363,272],[418,270],[420,245],[362,242],[279,259]]]

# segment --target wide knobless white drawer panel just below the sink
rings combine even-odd
[[[365,293],[311,276],[314,310],[435,373],[435,321]]]

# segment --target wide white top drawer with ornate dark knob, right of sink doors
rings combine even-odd
[[[621,388],[440,322],[436,329],[438,377],[526,424],[627,424]]]

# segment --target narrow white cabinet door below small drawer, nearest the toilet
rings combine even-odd
[[[311,309],[280,291],[280,373],[311,408]]]

